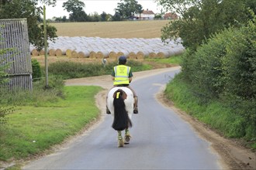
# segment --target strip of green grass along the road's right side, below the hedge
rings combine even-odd
[[[227,138],[239,138],[240,133],[243,133],[244,117],[235,114],[230,107],[219,100],[210,100],[207,103],[199,100],[188,85],[182,82],[180,76],[180,74],[175,76],[164,91],[165,96],[174,102],[175,107],[208,124]],[[255,140],[246,143],[249,148],[256,149]]]

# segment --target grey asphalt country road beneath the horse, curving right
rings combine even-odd
[[[133,114],[130,145],[117,148],[112,117],[106,115],[67,148],[23,169],[221,169],[220,156],[211,151],[209,142],[155,98],[175,73],[178,70],[131,83],[139,96],[139,114]]]

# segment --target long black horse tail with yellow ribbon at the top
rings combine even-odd
[[[114,128],[116,131],[123,131],[126,128],[132,127],[132,121],[130,121],[126,111],[126,105],[124,103],[126,93],[119,89],[116,90],[113,97],[114,121],[112,123],[112,128]]]

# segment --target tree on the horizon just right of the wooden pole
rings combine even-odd
[[[68,0],[64,2],[62,7],[67,12],[71,12],[69,19],[71,22],[85,22],[87,14],[83,10],[85,3],[79,0]]]

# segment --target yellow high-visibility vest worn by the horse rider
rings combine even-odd
[[[130,66],[125,66],[125,65],[115,66],[114,72],[115,72],[114,85],[130,84],[129,82]]]

